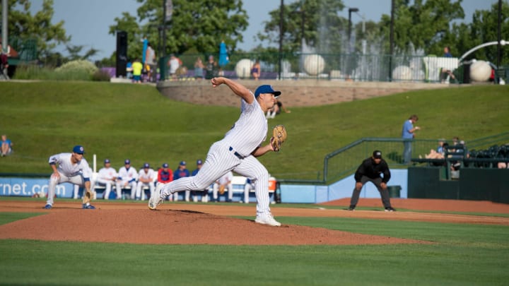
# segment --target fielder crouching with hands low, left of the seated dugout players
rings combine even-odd
[[[53,198],[57,184],[65,182],[84,186],[86,193],[83,195],[83,208],[95,209],[93,205],[90,205],[90,198],[92,198],[90,177],[92,173],[88,162],[83,157],[84,153],[83,146],[76,145],[73,148],[73,153],[60,153],[49,157],[49,166],[52,167],[53,174],[49,177],[48,199],[45,209],[51,210],[53,208]]]

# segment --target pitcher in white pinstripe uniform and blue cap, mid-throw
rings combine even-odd
[[[163,199],[177,191],[202,191],[227,172],[250,178],[254,181],[257,198],[257,216],[254,222],[279,227],[274,220],[269,202],[269,172],[257,157],[274,151],[269,143],[262,146],[267,138],[265,113],[276,104],[281,92],[271,85],[260,85],[254,94],[240,83],[228,78],[212,78],[212,86],[228,85],[228,88],[242,99],[242,113],[223,140],[213,143],[206,160],[196,176],[180,178],[168,184],[158,184],[155,194],[148,201],[148,208],[155,210]]]

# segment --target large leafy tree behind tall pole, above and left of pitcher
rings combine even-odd
[[[163,28],[163,1],[137,0],[141,3],[136,16],[123,13],[110,26],[115,31],[127,32],[129,57],[141,56],[140,41],[147,37],[153,47],[159,47],[159,29]],[[189,50],[200,53],[218,52],[222,40],[230,52],[242,42],[242,31],[247,28],[247,13],[241,0],[173,0],[172,18],[166,25],[165,54],[183,54]],[[144,23],[143,25],[141,23]],[[156,49],[159,50],[159,49]]]

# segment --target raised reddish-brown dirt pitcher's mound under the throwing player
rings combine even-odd
[[[191,210],[66,209],[0,225],[0,239],[134,244],[409,244],[411,239],[317,227],[270,227]]]

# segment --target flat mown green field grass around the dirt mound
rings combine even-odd
[[[11,220],[16,214],[0,213],[0,221],[4,216]],[[433,244],[217,246],[8,239],[0,240],[0,285],[507,285],[509,279],[505,226],[278,220]]]

